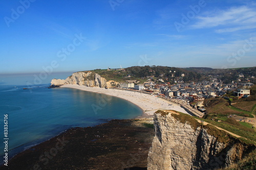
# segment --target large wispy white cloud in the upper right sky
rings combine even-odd
[[[247,6],[232,7],[228,10],[212,11],[198,16],[192,27],[195,29],[215,28],[217,33],[234,32],[256,28],[256,10]]]

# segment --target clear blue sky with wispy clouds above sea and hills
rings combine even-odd
[[[0,16],[0,74],[256,66],[255,1],[3,0]]]

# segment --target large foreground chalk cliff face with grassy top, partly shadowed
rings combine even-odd
[[[154,124],[155,137],[148,153],[147,169],[226,167],[255,149],[254,145],[246,145],[230,136],[227,137],[227,142],[221,142],[218,137],[210,135],[207,127],[193,127],[188,122],[181,123],[170,114],[155,113]]]

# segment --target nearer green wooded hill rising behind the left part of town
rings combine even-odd
[[[96,72],[107,81],[115,80],[117,82],[125,82],[126,80],[137,80],[140,83],[148,80],[159,82],[159,79],[162,79],[164,82],[174,83],[175,81],[198,82],[207,79],[195,71],[167,66],[132,66],[122,70],[95,69],[91,71]]]

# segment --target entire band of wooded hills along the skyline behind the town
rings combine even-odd
[[[231,83],[232,81],[245,83],[248,80],[251,83],[256,83],[256,67],[215,69],[209,67],[178,68],[146,65],[121,69],[95,69],[90,71],[97,73],[107,81],[114,80],[116,82],[135,80],[139,83],[144,83],[151,80],[155,83],[169,82],[170,84],[174,84],[177,82],[209,81],[211,76],[216,76],[224,83]],[[239,77],[239,75],[243,76]]]

